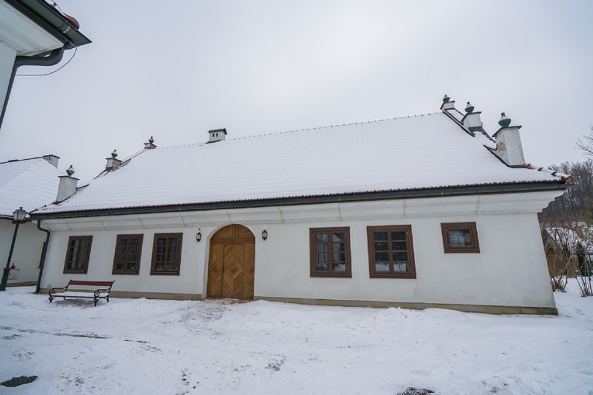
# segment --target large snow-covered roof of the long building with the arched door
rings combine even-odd
[[[40,213],[560,182],[509,168],[484,145],[493,142],[432,113],[157,148]]]

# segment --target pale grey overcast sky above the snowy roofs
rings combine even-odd
[[[434,113],[445,93],[490,134],[505,111],[539,166],[583,160],[575,141],[593,124],[590,0],[58,6],[93,43],[55,74],[17,77],[0,161],[56,154],[83,182],[150,136],[166,147],[221,127],[237,138]]]

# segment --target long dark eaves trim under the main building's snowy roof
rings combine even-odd
[[[383,191],[368,193],[349,193],[340,195],[303,196],[299,198],[276,198],[261,200],[242,200],[235,202],[213,202],[194,204],[174,204],[155,207],[127,207],[122,209],[97,209],[87,211],[65,211],[61,213],[31,213],[34,219],[77,218],[93,216],[120,216],[126,214],[172,213],[177,211],[210,211],[221,209],[248,209],[273,206],[296,206],[299,204],[324,204],[341,202],[363,202],[372,200],[395,200],[409,198],[438,198],[461,195],[486,195],[499,193],[521,193],[536,191],[556,191],[567,188],[564,182],[531,182],[514,184],[490,184],[477,186],[455,186],[448,188],[425,188],[405,191]]]

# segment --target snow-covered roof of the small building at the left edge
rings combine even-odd
[[[19,207],[31,211],[56,200],[61,175],[41,158],[0,163],[0,216],[12,218]]]

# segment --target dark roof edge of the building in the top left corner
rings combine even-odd
[[[64,49],[80,47],[91,42],[75,29],[68,19],[43,0],[6,0],[6,3],[63,42]]]

